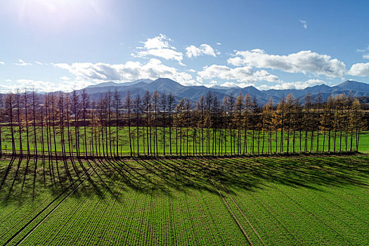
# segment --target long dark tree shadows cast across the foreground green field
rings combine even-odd
[[[188,189],[215,193],[212,180],[227,188],[257,190],[268,183],[318,189],[319,186],[368,188],[369,156],[228,157],[147,160],[93,159],[60,162],[60,179],[45,179],[52,170],[37,160],[2,160],[0,205],[27,202],[47,192],[58,196],[79,186],[71,196],[98,195],[119,200],[129,190],[160,190],[171,196]],[[83,179],[86,178],[86,179]]]

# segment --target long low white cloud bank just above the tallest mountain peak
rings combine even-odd
[[[151,58],[148,63],[129,61],[124,64],[108,63],[56,63],[55,67],[68,70],[77,79],[93,79],[94,81],[118,81],[130,82],[136,79],[157,79],[166,77],[183,85],[197,84],[193,77],[186,72],[179,72],[174,67],[168,67],[156,58]]]

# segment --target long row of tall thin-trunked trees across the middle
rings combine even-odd
[[[356,151],[366,127],[360,103],[344,94],[261,106],[249,94],[220,101],[209,92],[193,103],[157,91],[91,101],[85,90],[17,90],[0,101],[1,153],[49,158]]]

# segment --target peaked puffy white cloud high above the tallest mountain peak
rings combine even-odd
[[[179,65],[183,65],[183,53],[175,51],[176,48],[169,44],[170,41],[172,39],[169,39],[164,34],[159,34],[159,36],[153,37],[152,39],[141,41],[143,47],[136,47],[139,51],[131,53],[131,56],[141,58],[156,56],[166,60],[176,60]]]

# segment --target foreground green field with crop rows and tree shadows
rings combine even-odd
[[[0,161],[0,245],[368,245],[369,156]]]

